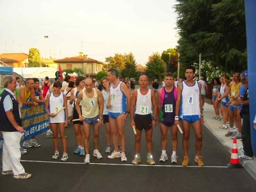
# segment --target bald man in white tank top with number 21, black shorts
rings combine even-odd
[[[156,125],[157,121],[154,118],[154,116],[157,116],[156,93],[147,88],[147,76],[140,76],[139,83],[140,88],[132,92],[131,99],[131,127],[135,126],[136,128],[135,155],[132,164],[140,163],[141,133],[143,129],[145,129],[147,141],[147,163],[156,164],[152,156],[152,128]],[[154,116],[152,115],[152,108],[154,109]]]

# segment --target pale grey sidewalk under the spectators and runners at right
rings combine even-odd
[[[227,148],[228,152],[231,154],[233,140],[230,137],[225,136],[228,132],[228,129],[220,129],[222,122],[218,120],[212,120],[212,117],[215,116],[213,106],[211,104],[204,104],[204,125],[209,129],[209,131],[216,136],[216,138]],[[237,148],[243,147],[243,143],[241,140],[237,140]],[[239,156],[243,153],[238,150]],[[230,159],[227,159],[227,164],[229,163]],[[256,180],[256,158],[254,157],[253,160],[240,160],[240,163],[244,166],[246,171],[252,175],[252,177]]]

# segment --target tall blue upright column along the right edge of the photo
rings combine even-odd
[[[256,1],[245,0],[247,56],[248,56],[248,87],[250,100],[250,121],[253,153],[256,156],[256,131],[253,120],[256,114]]]

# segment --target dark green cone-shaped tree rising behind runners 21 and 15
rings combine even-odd
[[[150,61],[146,64],[146,75],[149,79],[158,79],[162,80],[164,74],[166,73],[166,63],[161,59],[161,56],[158,52],[150,56]]]

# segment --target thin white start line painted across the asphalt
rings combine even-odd
[[[32,163],[59,163],[59,164],[84,164],[78,162],[61,162],[61,161],[31,161],[31,160],[20,160],[22,162],[32,162]],[[118,163],[90,163],[96,165],[116,165],[116,166],[150,166],[150,167],[184,167],[181,165],[169,165],[169,164],[118,164]],[[228,168],[227,166],[187,166],[187,168]]]

